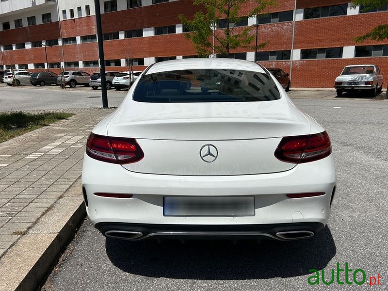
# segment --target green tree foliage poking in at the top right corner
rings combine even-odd
[[[388,4],[388,0],[353,0],[351,7],[361,6],[363,11],[381,8]],[[354,38],[356,42],[363,42],[367,39],[384,40],[388,38],[388,24],[381,24],[372,29],[372,31]]]

